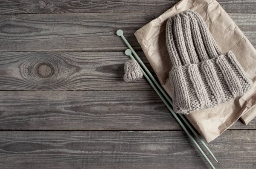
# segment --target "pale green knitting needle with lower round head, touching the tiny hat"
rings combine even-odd
[[[127,56],[130,56],[131,59],[135,60],[134,57],[131,54],[131,50],[127,49],[125,51],[125,54]],[[180,124],[180,126],[183,128],[183,130],[186,132],[186,134],[189,136],[189,138],[192,140],[192,142],[195,144],[195,146],[198,148],[198,150],[201,152],[201,154],[204,156],[204,158],[206,159],[206,161],[209,163],[209,165],[212,167],[212,169],[215,169],[215,167],[212,165],[211,161],[209,161],[209,159],[207,158],[207,156],[204,154],[203,150],[200,148],[200,146],[197,144],[197,142],[195,141],[195,139],[192,137],[192,135],[189,133],[189,131],[186,129],[186,127],[183,125],[183,123],[180,121],[180,119],[178,118],[178,116],[174,113],[174,111],[172,110],[172,108],[169,106],[169,104],[167,103],[167,101],[164,99],[164,97],[162,96],[162,94],[159,92],[159,90],[157,89],[157,87],[154,85],[154,83],[151,81],[151,79],[149,79],[148,75],[145,73],[145,71],[140,67],[140,70],[142,71],[144,77],[148,80],[149,84],[154,88],[154,90],[157,92],[158,96],[162,99],[162,101],[164,102],[164,104],[167,106],[167,108],[170,110],[170,112],[172,113],[172,115],[176,118],[176,120],[178,121],[178,123]]]

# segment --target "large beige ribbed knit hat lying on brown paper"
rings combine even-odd
[[[203,18],[183,11],[169,18],[166,45],[176,113],[215,107],[247,92],[248,79],[232,51],[221,54]]]

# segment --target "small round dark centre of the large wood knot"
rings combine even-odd
[[[54,74],[54,67],[46,62],[39,63],[38,65],[36,65],[35,70],[35,74],[41,78],[48,78]]]

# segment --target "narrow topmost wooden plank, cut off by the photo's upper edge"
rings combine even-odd
[[[1,0],[0,14],[164,12],[179,0]],[[218,0],[230,13],[256,13],[256,0]]]

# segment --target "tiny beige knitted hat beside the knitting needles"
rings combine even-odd
[[[125,63],[125,82],[133,82],[138,79],[141,79],[143,76],[142,71],[140,70],[140,65],[136,60],[129,60]]]

